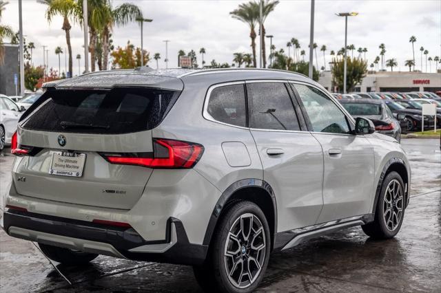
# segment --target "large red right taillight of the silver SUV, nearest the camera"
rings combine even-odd
[[[157,169],[192,168],[204,151],[201,144],[181,140],[153,140],[153,153],[102,153],[112,164],[144,166]]]

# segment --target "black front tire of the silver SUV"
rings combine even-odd
[[[397,188],[400,189],[400,194],[402,196],[401,200],[395,200],[392,199],[391,204],[388,204],[384,201],[384,197],[389,198],[389,195],[387,195],[388,187],[391,186],[390,184],[396,184]],[[395,187],[393,188],[395,191]],[[397,196],[398,198],[398,196]],[[389,239],[397,235],[398,231],[400,231],[402,220],[404,219],[404,207],[406,206],[406,196],[404,195],[404,182],[402,181],[401,176],[396,173],[395,171],[392,171],[391,173],[387,174],[387,176],[384,178],[380,195],[378,195],[378,201],[376,205],[376,213],[374,217],[374,221],[361,226],[363,231],[366,235],[369,237],[372,237],[373,239]],[[391,208],[391,212],[384,211],[384,209]],[[398,210],[401,208],[401,213],[398,214],[396,218],[394,217],[395,210]],[[391,219],[392,221],[388,220]],[[395,221],[397,219],[397,221]],[[386,223],[387,222],[387,223]]]

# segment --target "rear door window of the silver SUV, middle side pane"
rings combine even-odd
[[[249,127],[300,130],[294,106],[283,83],[247,84]]]

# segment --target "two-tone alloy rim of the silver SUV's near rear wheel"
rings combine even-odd
[[[225,270],[229,281],[238,288],[252,285],[265,261],[265,230],[252,213],[240,215],[229,229],[225,241]]]

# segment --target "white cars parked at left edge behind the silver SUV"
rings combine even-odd
[[[12,134],[17,130],[17,122],[43,93],[37,92],[22,96],[0,94],[0,151],[11,143]]]

